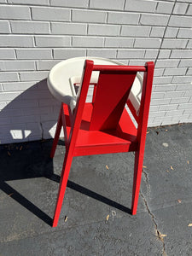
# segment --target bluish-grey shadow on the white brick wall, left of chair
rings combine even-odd
[[[46,79],[33,84],[1,110],[0,143],[51,138],[59,109],[60,102],[49,93]]]

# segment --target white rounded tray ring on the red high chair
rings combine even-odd
[[[61,61],[52,67],[47,79],[49,91],[58,101],[68,104],[72,111],[76,106],[76,92],[73,84],[80,83],[86,59],[94,61],[95,65],[125,65],[119,61],[88,56]],[[93,72],[90,81],[94,83],[97,79],[98,72]],[[140,107],[142,80],[142,76],[137,73],[129,96],[136,110]]]

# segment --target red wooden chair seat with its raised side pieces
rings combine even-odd
[[[69,111],[66,104],[63,106],[65,119],[67,120],[67,135],[69,136],[71,131]],[[92,109],[92,103],[84,105],[83,118],[73,153],[74,156],[127,152],[134,151],[137,148],[137,129],[126,109],[124,109],[121,115],[117,129],[89,131]]]

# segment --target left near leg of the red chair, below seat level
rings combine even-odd
[[[72,160],[73,156],[69,155],[68,152],[65,155],[65,160],[63,163],[62,167],[62,172],[61,172],[61,180],[60,180],[60,187],[59,187],[59,192],[57,195],[57,202],[56,202],[56,207],[55,207],[55,215],[53,219],[53,227],[56,227],[58,224],[58,220],[60,217],[60,212],[61,212],[61,207],[62,207],[62,201],[64,199],[66,187],[67,187],[67,180],[68,180],[68,175],[70,172],[70,167],[72,165]]]

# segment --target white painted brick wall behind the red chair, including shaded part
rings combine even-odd
[[[191,0],[0,0],[0,142],[52,137],[51,67],[84,55],[155,62],[148,125],[192,122]]]

